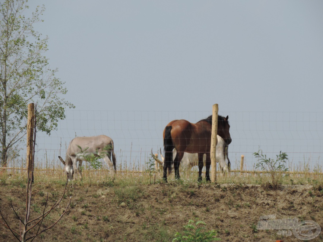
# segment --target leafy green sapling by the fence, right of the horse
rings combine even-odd
[[[279,152],[276,155],[276,160],[267,158],[266,155],[262,153],[262,150],[254,153],[254,156],[258,159],[256,168],[261,168],[263,171],[267,171],[271,177],[271,187],[273,189],[278,189],[282,183],[282,172],[287,171],[286,162],[288,160],[287,154],[285,152]]]

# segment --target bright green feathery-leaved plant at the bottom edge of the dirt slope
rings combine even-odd
[[[209,242],[221,240],[217,238],[217,232],[215,230],[206,231],[205,222],[199,218],[195,218],[196,221],[190,219],[188,224],[184,226],[183,233],[177,232],[172,242]]]

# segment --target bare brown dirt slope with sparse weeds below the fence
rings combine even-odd
[[[17,180],[0,184],[1,212],[19,231],[19,220],[9,201],[24,216],[26,183]],[[47,193],[48,205],[52,206],[64,186],[64,181],[36,181],[31,218],[42,214]],[[218,231],[222,241],[302,241],[293,234],[278,235],[278,229],[257,230],[260,216],[266,215],[298,218],[299,222],[312,220],[323,228],[321,185],[285,185],[272,190],[245,184],[144,184],[140,180],[130,184],[109,180],[90,185],[70,182],[66,195],[44,219],[41,229],[56,221],[71,196],[67,214],[34,241],[172,241],[193,218],[203,220],[208,230]],[[0,228],[0,241],[16,241],[8,229],[1,224]],[[323,241],[323,232],[310,241]]]

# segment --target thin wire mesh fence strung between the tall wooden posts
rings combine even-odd
[[[172,120],[197,122],[212,114],[210,111],[88,111],[67,110],[66,119],[58,122],[56,131],[48,136],[37,132],[35,159],[41,164],[59,166],[58,156],[65,158],[69,142],[77,136],[105,134],[113,139],[119,164],[129,170],[143,170],[151,150],[163,149],[162,133]],[[255,170],[253,156],[259,149],[275,158],[286,152],[290,170],[320,169],[322,163],[323,112],[252,112],[221,111],[229,116],[232,143],[229,159],[232,169],[240,167],[245,156],[245,170]],[[21,161],[26,148],[22,146]],[[12,166],[10,161],[8,166]],[[304,167],[306,166],[306,167]]]

